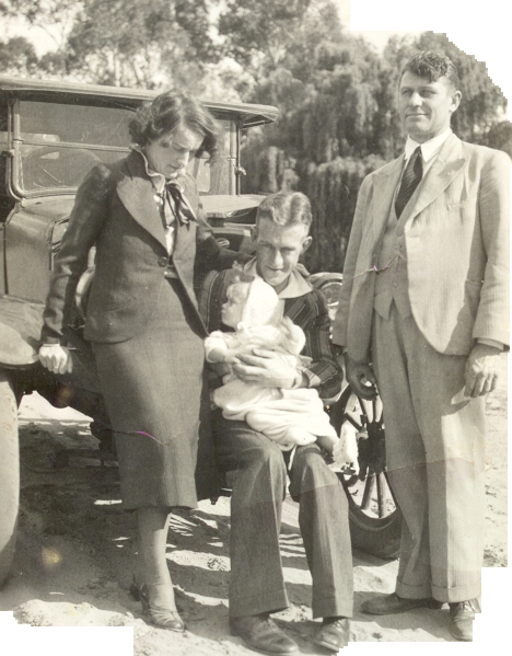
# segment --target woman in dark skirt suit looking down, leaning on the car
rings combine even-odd
[[[78,280],[96,246],[84,336],[116,436],[123,504],[138,514],[133,591],[153,623],[183,631],[165,546],[172,507],[197,505],[195,467],[205,327],[194,272],[226,268],[201,209],[191,157],[214,156],[218,124],[193,95],[167,92],[130,123],[118,163],[80,186],[50,283],[40,361],[70,370],[63,346]]]

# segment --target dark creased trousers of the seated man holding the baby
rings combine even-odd
[[[279,549],[284,457],[245,422],[216,413],[214,424],[217,460],[232,488],[230,614],[277,612],[289,606]],[[352,554],[342,485],[316,444],[296,449],[289,475],[313,578],[313,617],[351,617]]]

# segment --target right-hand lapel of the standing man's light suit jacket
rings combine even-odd
[[[409,204],[404,209],[403,218],[408,220],[410,217],[418,216],[428,207],[446,187],[452,184],[455,177],[464,168],[465,159],[462,154],[462,141],[455,135],[450,135],[441,147],[441,150],[427,172],[423,182],[419,187],[416,203]]]

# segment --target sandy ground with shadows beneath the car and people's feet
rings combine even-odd
[[[507,566],[505,375],[503,356],[499,388],[487,400],[487,567]],[[32,626],[132,626],[136,656],[252,654],[228,630],[229,498],[222,497],[217,505],[201,502],[193,513],[172,516],[167,559],[187,631],[175,634],[155,629],[146,623],[140,605],[128,591],[136,559],[135,517],[121,508],[116,467],[101,467],[97,460],[68,451],[69,462],[55,469],[62,449],[96,447],[88,417],[71,410],[57,411],[32,394],[23,400],[20,419],[19,544],[13,575],[0,594],[0,611],[14,611],[20,623]],[[296,505],[291,499],[284,507],[281,550],[291,607],[276,619],[298,642],[302,654],[326,654],[311,640],[318,624],[311,619],[311,577],[298,529]],[[437,642],[440,651],[442,643],[464,647],[465,653],[477,642],[482,647],[481,631],[476,632],[473,645],[454,644],[446,629],[447,609],[376,619],[361,614],[362,601],[394,589],[397,561],[356,552],[353,566],[356,615],[351,641],[360,643],[357,653],[368,653],[361,651],[361,643],[370,647],[369,643],[377,642],[414,641],[419,651],[422,642]],[[8,653],[24,654],[20,645]],[[356,645],[351,642],[348,648],[352,647]],[[371,653],[382,654],[383,649],[384,645]],[[393,653],[397,651],[395,645]],[[128,656],[119,648],[109,653]]]

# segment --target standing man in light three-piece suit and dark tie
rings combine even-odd
[[[396,591],[371,614],[450,605],[470,641],[485,518],[484,395],[509,342],[507,154],[461,141],[447,57],[405,67],[405,154],[362,183],[334,342],[347,378],[384,404],[388,479],[404,515]]]

